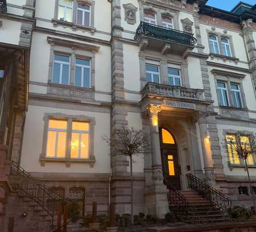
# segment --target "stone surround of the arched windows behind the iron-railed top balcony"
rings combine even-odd
[[[156,25],[162,26],[162,16],[169,17],[173,20],[173,29],[179,30],[177,10],[160,9],[153,5],[142,5],[140,8],[140,21],[144,21],[144,11],[149,11],[156,15]]]

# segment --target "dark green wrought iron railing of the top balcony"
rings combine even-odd
[[[140,23],[136,30],[134,39],[136,41],[139,40],[141,35],[153,36],[155,38],[170,40],[189,46],[194,46],[197,43],[197,39],[194,38],[193,34],[191,33],[169,29],[145,22]]]

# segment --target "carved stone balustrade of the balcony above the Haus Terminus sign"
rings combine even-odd
[[[179,97],[191,100],[204,100],[203,89],[192,89],[181,86],[169,86],[168,84],[158,84],[153,82],[148,82],[145,85],[145,87],[141,90],[142,97],[145,97],[148,94],[168,97]]]

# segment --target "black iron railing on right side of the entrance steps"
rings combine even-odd
[[[214,205],[220,207],[220,209],[225,211],[231,209],[231,200],[225,194],[214,189],[212,186],[206,184],[206,182],[200,180],[200,178],[197,178],[191,173],[186,174],[186,177],[188,179],[189,188],[200,193],[202,197],[205,197]]]

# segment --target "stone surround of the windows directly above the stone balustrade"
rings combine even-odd
[[[147,84],[147,81],[146,81],[146,64],[147,63],[159,64],[161,84],[169,84],[168,67],[170,64],[180,66],[182,87],[186,87],[186,88],[190,87],[189,75],[188,75],[188,62],[186,60],[170,59],[166,56],[152,56],[149,54],[145,54],[144,52],[139,53],[139,60],[140,60],[141,89],[143,89],[145,84]]]

